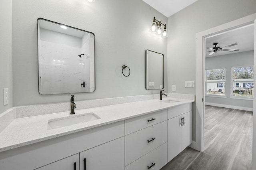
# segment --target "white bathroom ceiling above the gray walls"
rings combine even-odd
[[[183,8],[193,4],[197,0],[143,0],[148,5],[158,10],[161,14],[169,17]]]

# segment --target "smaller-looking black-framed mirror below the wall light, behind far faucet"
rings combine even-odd
[[[146,50],[146,89],[164,89],[164,54]]]

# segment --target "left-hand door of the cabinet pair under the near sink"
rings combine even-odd
[[[58,160],[36,170],[79,170],[79,154]]]

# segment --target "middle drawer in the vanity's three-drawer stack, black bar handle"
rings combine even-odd
[[[167,121],[126,135],[125,165],[132,163],[165,142],[167,142]]]

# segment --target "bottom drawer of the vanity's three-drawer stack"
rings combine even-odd
[[[125,167],[125,170],[160,170],[167,164],[167,143],[152,150]],[[152,166],[150,168],[150,166]]]

